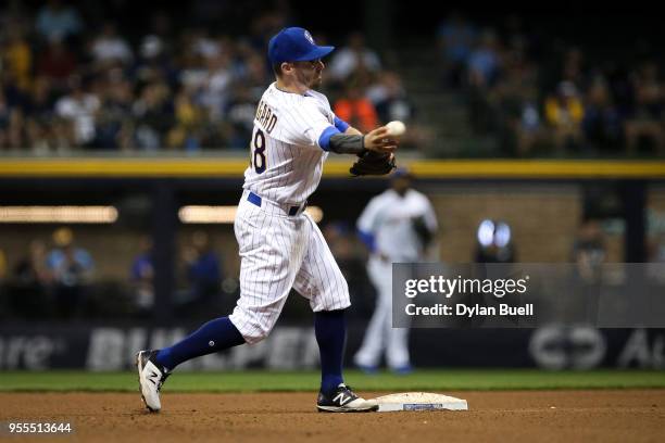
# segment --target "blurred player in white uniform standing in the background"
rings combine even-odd
[[[377,291],[369,320],[354,363],[365,372],[375,372],[381,355],[397,374],[412,370],[409,359],[409,329],[392,328],[392,264],[421,262],[432,244],[437,217],[429,200],[411,188],[413,176],[399,168],[391,188],[369,201],[357,220],[361,239],[369,249],[367,273]]]

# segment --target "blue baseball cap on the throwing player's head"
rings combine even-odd
[[[284,28],[268,43],[271,63],[306,62],[328,55],[335,47],[316,46],[309,30],[300,27]]]

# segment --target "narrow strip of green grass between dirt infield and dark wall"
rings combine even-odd
[[[0,371],[0,392],[105,391],[135,392],[134,372]],[[315,391],[318,371],[176,372],[168,392]],[[366,376],[349,370],[347,382],[362,391],[456,391],[528,389],[665,388],[665,371],[593,370],[542,371],[536,369],[434,369],[410,376]]]

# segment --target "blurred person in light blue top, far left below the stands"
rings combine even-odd
[[[47,256],[47,266],[52,276],[55,305],[62,317],[76,317],[83,313],[95,262],[88,251],[74,245],[70,228],[57,229],[53,242],[55,248]]]

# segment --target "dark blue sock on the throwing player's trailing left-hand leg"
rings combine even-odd
[[[244,339],[228,317],[219,317],[206,322],[173,346],[160,350],[156,362],[171,372],[183,362],[242,343]]]

